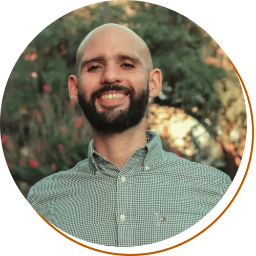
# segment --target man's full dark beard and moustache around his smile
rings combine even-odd
[[[121,91],[129,94],[129,106],[124,110],[115,110],[116,106],[108,106],[105,111],[97,111],[95,104],[97,96],[108,91]],[[135,95],[135,91],[132,88],[123,87],[119,84],[107,84],[95,91],[89,101],[86,100],[85,94],[80,90],[78,91],[78,103],[84,116],[95,130],[107,133],[121,133],[139,124],[145,116],[148,99],[148,82],[147,88],[140,90],[137,95]]]

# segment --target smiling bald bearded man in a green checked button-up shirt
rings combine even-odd
[[[223,197],[229,177],[214,167],[162,150],[145,131],[149,97],[162,74],[133,31],[98,27],[82,41],[70,98],[89,120],[88,159],[51,175],[28,201],[54,226],[108,246],[139,246],[175,236],[201,220]]]

